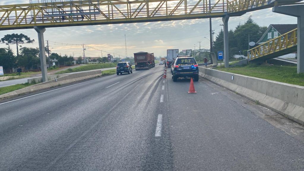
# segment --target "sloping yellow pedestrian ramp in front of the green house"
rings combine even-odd
[[[298,29],[291,30],[248,51],[248,61],[264,62],[297,51]]]

